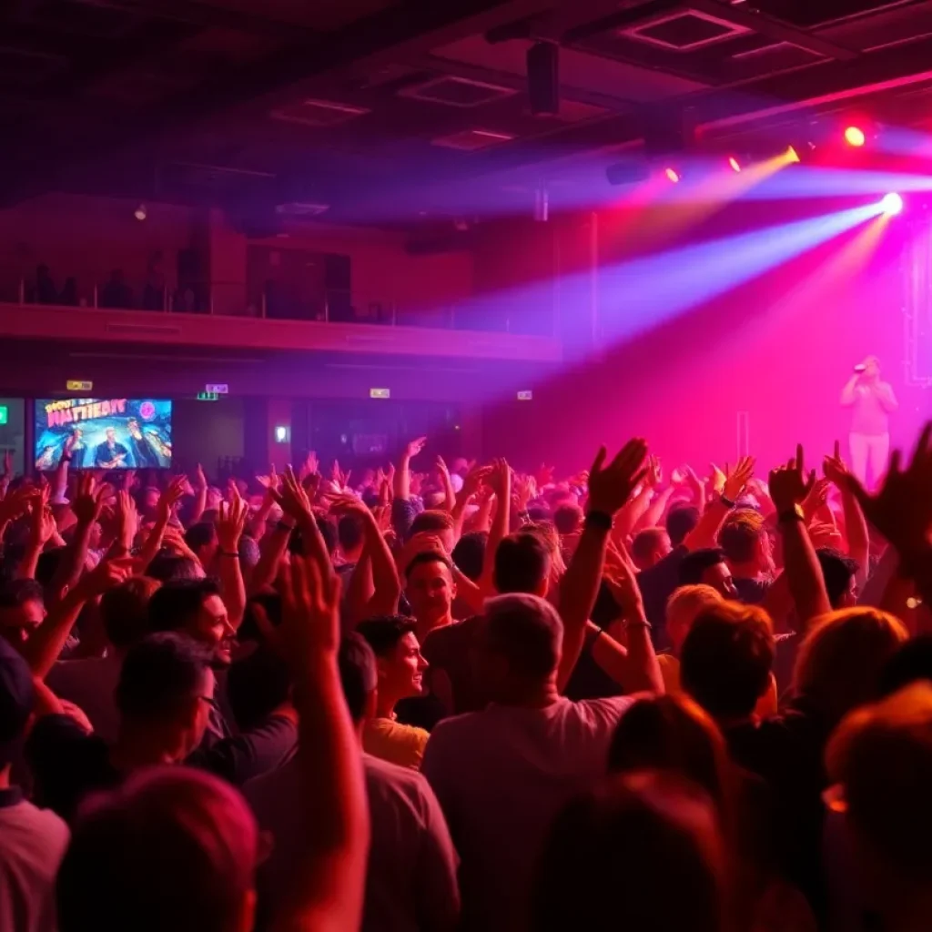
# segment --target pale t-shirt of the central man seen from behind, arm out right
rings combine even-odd
[[[563,805],[607,772],[628,696],[545,708],[488,706],[441,721],[421,773],[440,801],[462,865],[462,928],[520,932],[534,869]]]

